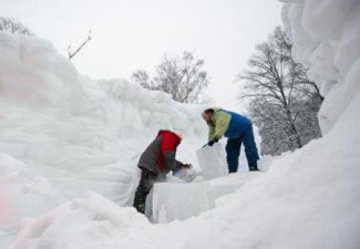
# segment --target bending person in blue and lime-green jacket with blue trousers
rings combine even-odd
[[[245,147],[250,171],[259,171],[257,161],[259,153],[254,141],[252,121],[243,115],[221,108],[208,108],[202,112],[202,118],[208,124],[208,143],[213,146],[222,137],[228,138],[226,144],[226,160],[229,173],[237,171],[241,143]]]

